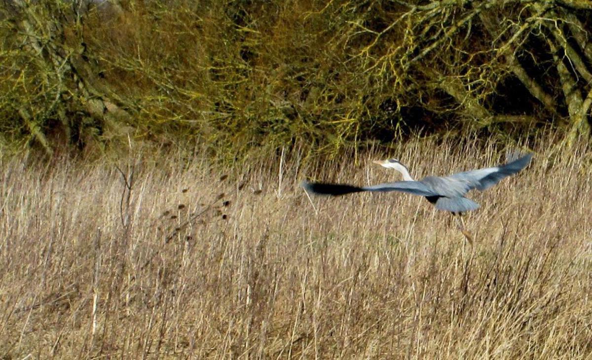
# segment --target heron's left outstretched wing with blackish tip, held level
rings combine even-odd
[[[323,182],[303,182],[302,186],[308,192],[317,195],[345,195],[351,192],[361,191],[401,191],[420,196],[439,195],[420,181],[385,182],[384,184],[371,185],[369,187],[355,187],[347,184],[326,184]]]

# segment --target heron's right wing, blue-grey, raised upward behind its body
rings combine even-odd
[[[532,159],[532,154],[522,156],[517,160],[494,168],[459,172],[448,176],[448,178],[466,185],[467,191],[475,188],[484,191],[496,185],[506,176],[514,175],[526,168],[530,163],[530,159]]]

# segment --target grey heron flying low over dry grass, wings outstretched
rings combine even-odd
[[[303,187],[317,195],[345,195],[352,192],[388,192],[400,191],[423,196],[436,206],[438,210],[449,211],[457,221],[458,228],[472,245],[471,233],[465,229],[462,213],[477,210],[480,207],[475,201],[466,198],[465,194],[472,189],[485,191],[493,187],[503,178],[514,175],[526,168],[532,159],[532,153],[523,155],[503,165],[455,173],[449,176],[426,176],[414,180],[407,166],[398,159],[374,160],[373,162],[388,169],[395,169],[403,175],[403,181],[385,182],[384,184],[357,187],[348,184],[329,184],[323,182],[304,182]]]

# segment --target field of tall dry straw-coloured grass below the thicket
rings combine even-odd
[[[226,169],[5,157],[0,358],[589,359],[592,155],[550,144],[469,194],[473,248],[423,198],[309,200],[298,184],[399,179],[384,157],[417,178],[496,165],[493,142]]]

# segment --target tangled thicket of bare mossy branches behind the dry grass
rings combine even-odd
[[[590,135],[584,0],[0,4],[0,131],[47,152],[166,139],[221,155],[295,142],[332,153],[417,130],[543,126],[568,146]]]

